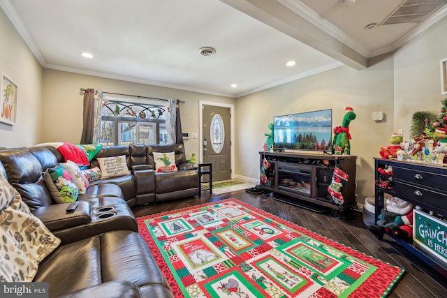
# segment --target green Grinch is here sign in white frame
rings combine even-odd
[[[413,241],[447,264],[447,222],[414,209]]]

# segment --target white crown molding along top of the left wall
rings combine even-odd
[[[29,50],[31,50],[31,52],[34,54],[34,57],[36,57],[41,66],[45,67],[47,61],[45,61],[45,58],[43,58],[41,51],[38,49],[36,43],[34,43],[33,38],[31,38],[31,34],[29,34],[27,27],[25,27],[25,25],[23,24],[22,19],[13,6],[13,3],[11,3],[9,0],[0,0],[0,6],[5,15],[8,17],[10,22],[17,30],[17,32],[20,34],[20,36],[22,36],[24,42],[28,45]]]

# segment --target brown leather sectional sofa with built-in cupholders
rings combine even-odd
[[[152,152],[175,151],[177,172],[156,172]],[[130,207],[198,194],[198,174],[182,144],[103,147],[98,157],[125,155],[130,175],[94,181],[74,212],[55,204],[43,172],[63,163],[52,147],[0,150],[0,171],[61,245],[39,265],[34,281],[50,297],[173,297]],[[91,166],[98,165],[94,158]]]

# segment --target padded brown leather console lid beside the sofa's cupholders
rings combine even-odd
[[[78,207],[71,213],[66,211],[69,204],[52,204],[40,207],[32,213],[40,218],[50,231],[72,228],[91,222],[91,204],[89,202],[78,202]]]

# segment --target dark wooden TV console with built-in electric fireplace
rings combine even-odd
[[[293,152],[261,151],[261,188],[274,193],[274,200],[313,211],[330,211],[340,218],[356,206],[356,160],[352,155],[318,155]],[[266,168],[264,161],[270,164]],[[342,187],[343,204],[336,204],[328,193],[335,167],[349,175]]]

